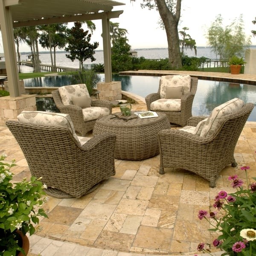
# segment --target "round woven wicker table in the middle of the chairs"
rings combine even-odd
[[[119,117],[121,113],[116,113]],[[127,119],[114,115],[99,118],[93,128],[93,135],[113,132],[116,134],[115,158],[122,160],[143,160],[159,154],[157,133],[170,128],[166,114],[143,118],[132,113]],[[128,119],[136,117],[134,119]],[[106,149],[108,150],[108,149]]]

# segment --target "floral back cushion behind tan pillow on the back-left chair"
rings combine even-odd
[[[63,105],[73,105],[72,97],[87,95],[90,97],[86,84],[73,84],[59,87]]]

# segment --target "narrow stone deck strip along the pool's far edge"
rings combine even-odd
[[[119,75],[126,76],[166,76],[166,75],[190,75],[202,80],[224,81],[238,84],[252,84],[256,85],[256,75],[218,72],[201,72],[201,71],[176,71],[176,70],[131,70],[119,72]]]

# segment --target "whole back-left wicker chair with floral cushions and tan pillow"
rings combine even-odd
[[[52,91],[52,97],[59,111],[70,115],[76,132],[81,136],[93,130],[98,118],[112,113],[111,102],[90,100],[85,84],[62,86]]]

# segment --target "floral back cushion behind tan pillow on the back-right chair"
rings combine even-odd
[[[179,87],[183,86],[183,95],[190,92],[191,77],[189,75],[168,75],[161,76],[160,79],[160,98],[166,96],[166,87]]]

